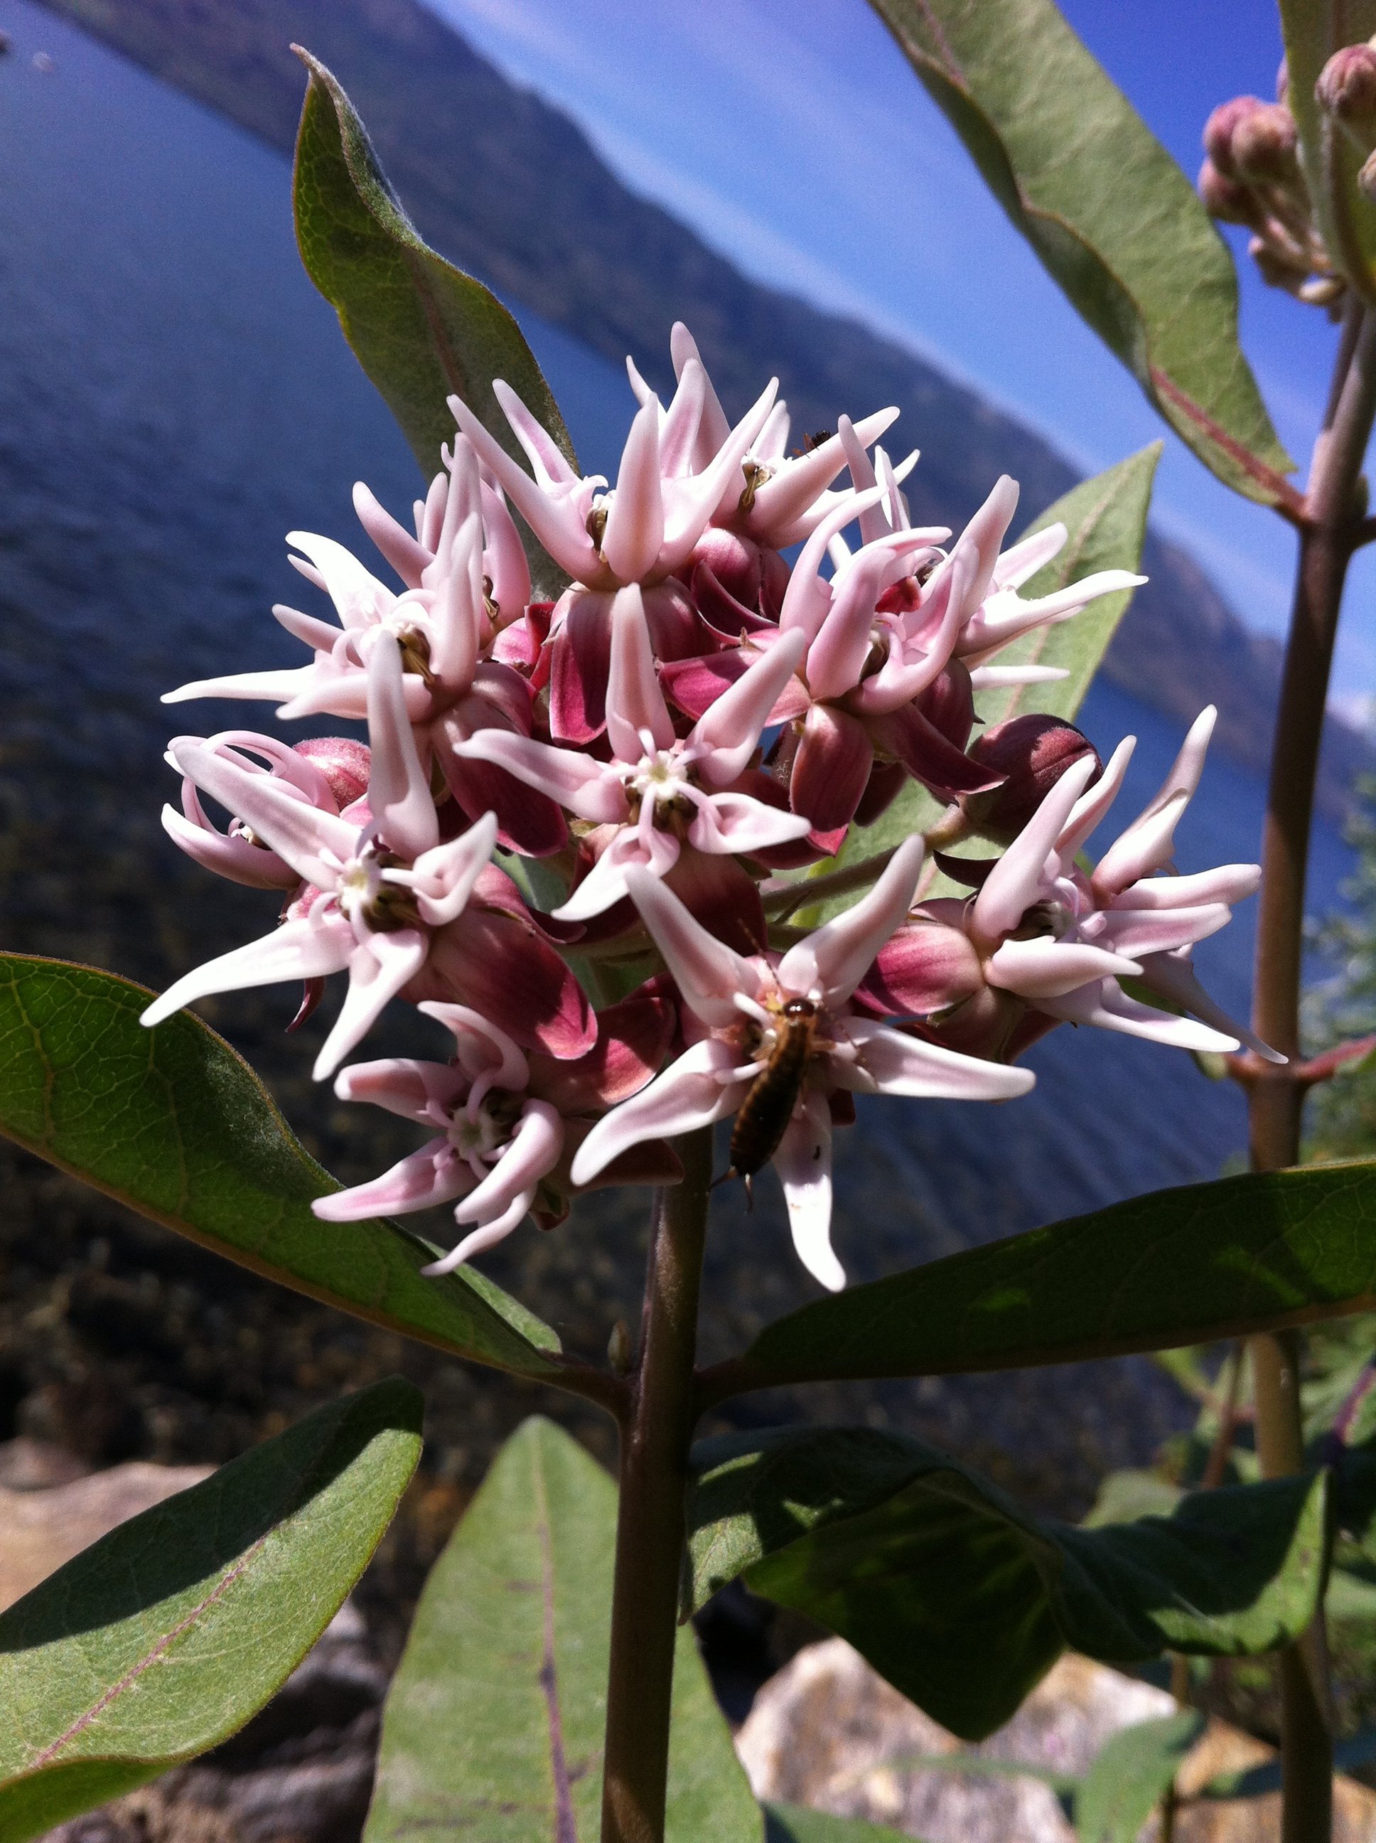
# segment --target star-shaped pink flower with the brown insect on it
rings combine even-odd
[[[634,1145],[672,1139],[735,1113],[768,1067],[785,1006],[814,1008],[812,1052],[792,1115],[772,1154],[788,1202],[794,1246],[823,1286],[845,1283],[831,1248],[831,1097],[923,1095],[1002,1100],[1033,1086],[1026,1069],[976,1062],[860,1017],[851,993],[875,953],[906,916],[923,842],[908,839],[873,890],[785,955],[740,955],[709,934],[648,872],[626,885],[678,982],[694,1041],[661,1076],[608,1113],[573,1159],[573,1181],[589,1183]]]

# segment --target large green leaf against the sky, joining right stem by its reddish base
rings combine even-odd
[[[1295,463],[1238,345],[1232,258],[1052,0],[873,6],[1013,225],[1175,433],[1236,492],[1286,498]]]

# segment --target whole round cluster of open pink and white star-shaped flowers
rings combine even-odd
[[[910,522],[917,457],[877,446],[895,411],[790,450],[775,385],[731,426],[683,326],[672,358],[667,407],[632,367],[641,407],[615,487],[578,475],[505,385],[529,472],[453,398],[459,429],[414,529],[354,494],[400,586],[293,533],[291,560],[335,614],[274,610],[309,663],[168,698],[367,719],[367,746],[239,730],[169,745],[182,800],[166,829],[206,868],[280,892],[282,914],[144,1021],[302,980],[300,1021],[346,973],[317,1078],[431,1137],[315,1211],[453,1203],[462,1233],[427,1272],[527,1215],[556,1224],[582,1189],[674,1181],[667,1141],[737,1115],[735,1174],[775,1165],[799,1257],[840,1286],[831,1133],[857,1093],[1011,1098],[1033,1082],[1017,1054],[1061,1019],[1253,1043],[1201,992],[1190,949],[1251,894],[1254,866],[1160,875],[1212,713],[1092,874],[1078,857],[1131,743],[1105,770],[1078,732],[1048,741],[1048,721],[1026,745],[1017,724],[971,745],[982,687],[1057,676],[1000,663],[1009,640],[1140,577],[1024,599],[1065,529],[1004,549],[1009,479],[950,542]],[[553,605],[531,599],[512,512],[569,577]],[[912,837],[822,927],[770,922],[787,874],[825,866],[908,781],[952,804],[947,844],[997,837],[1000,804],[1020,829],[995,861],[934,859]],[[938,863],[974,894],[923,899]],[[534,890],[556,894],[536,907]],[[396,997],[451,1054],[341,1069]]]

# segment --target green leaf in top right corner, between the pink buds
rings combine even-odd
[[[1376,299],[1376,206],[1359,192],[1365,155],[1315,101],[1319,72],[1345,44],[1376,33],[1376,0],[1280,0],[1280,29],[1289,68],[1289,109],[1299,125],[1300,160],[1313,216],[1328,254],[1367,300]]]

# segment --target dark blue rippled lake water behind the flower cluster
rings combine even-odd
[[[295,663],[267,612],[297,588],[282,534],[354,542],[352,481],[403,509],[418,475],[300,269],[286,160],[26,0],[0,0],[0,28],[13,39],[0,59],[0,767],[18,763],[29,789],[7,787],[11,842],[66,824],[59,794],[99,816],[70,853],[90,864],[92,925],[105,903],[114,940],[136,925],[114,912],[134,898],[105,890],[101,839],[146,853],[149,879],[181,874],[153,829],[169,728],[158,693]],[[624,376],[523,323],[584,461],[608,470],[634,407]],[[1120,798],[1131,816],[1179,734],[1113,689],[1090,695],[1085,722],[1105,752],[1140,737]],[[1181,868],[1254,857],[1260,815],[1258,783],[1216,761],[1179,833]],[[1321,826],[1315,907],[1345,868]],[[173,947],[162,962],[158,942],[146,947],[136,969],[166,977]],[[1245,916],[1199,958],[1245,1012]],[[1063,1028],[1032,1062],[1037,1091],[1015,1106],[862,1106],[838,1187],[864,1200],[842,1205],[838,1227],[857,1274],[1212,1176],[1242,1145],[1238,1093],[1179,1052]]]

